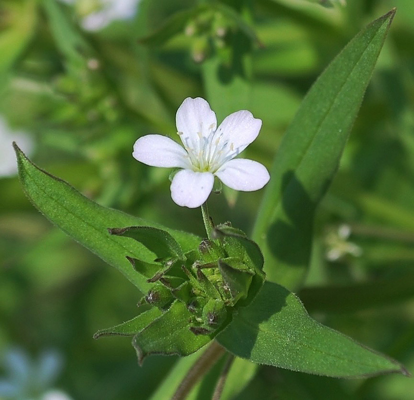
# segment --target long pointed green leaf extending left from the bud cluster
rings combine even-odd
[[[152,284],[135,271],[126,257],[151,263],[156,254],[134,239],[111,235],[108,227],[153,226],[168,231],[183,251],[198,246],[201,239],[197,236],[168,229],[95,203],[64,180],[38,168],[16,143],[14,146],[18,157],[19,176],[33,204],[55,225],[118,268],[142,292],[147,292]]]

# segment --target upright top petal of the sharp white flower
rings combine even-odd
[[[187,97],[178,108],[175,121],[184,147],[190,148],[194,154],[198,154],[201,144],[204,144],[201,137],[206,140],[217,127],[215,112],[201,97]]]

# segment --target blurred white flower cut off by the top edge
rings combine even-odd
[[[135,16],[141,0],[60,0],[75,6],[85,30],[96,31],[117,19]]]

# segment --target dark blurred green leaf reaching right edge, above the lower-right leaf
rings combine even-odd
[[[308,311],[355,312],[414,298],[414,273],[343,286],[306,287],[299,292]]]

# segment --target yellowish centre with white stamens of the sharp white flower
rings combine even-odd
[[[177,132],[181,136],[188,157],[197,172],[216,172],[226,161],[240,153],[239,148],[234,148],[234,143],[224,137],[224,132],[216,124],[211,124],[204,135],[197,132],[197,136],[183,136],[183,132]]]

